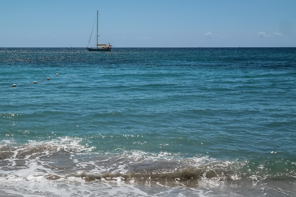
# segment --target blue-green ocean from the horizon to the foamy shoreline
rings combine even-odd
[[[0,69],[1,197],[296,196],[296,48],[0,48]]]

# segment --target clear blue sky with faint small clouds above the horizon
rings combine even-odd
[[[296,47],[295,8],[296,0],[0,0],[0,47],[86,47],[97,10],[99,41],[113,47]]]

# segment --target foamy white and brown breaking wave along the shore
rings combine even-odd
[[[2,141],[1,144],[0,177],[6,179],[21,176],[126,182],[296,180],[296,162],[278,157],[221,161],[201,155],[185,158],[168,152],[124,149],[94,152],[94,147],[89,147],[83,139],[70,137],[46,143],[30,141],[17,145]]]

